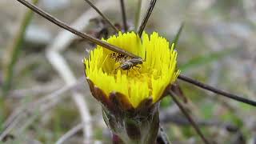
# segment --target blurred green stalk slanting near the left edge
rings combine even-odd
[[[38,3],[38,0],[33,0],[33,3]],[[4,62],[4,78],[3,78],[3,95],[6,95],[10,90],[11,82],[14,76],[14,66],[18,60],[18,56],[20,54],[22,43],[26,34],[26,29],[31,22],[31,18],[33,13],[31,10],[27,10],[24,18],[22,19],[20,28],[18,30],[17,35],[14,38],[14,42],[11,43],[11,46],[6,49],[6,56]]]

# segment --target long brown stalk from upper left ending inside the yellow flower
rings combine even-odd
[[[103,41],[99,40],[98,38],[94,38],[94,37],[90,36],[89,34],[84,34],[78,30],[75,30],[74,28],[68,26],[66,23],[58,20],[58,18],[54,18],[50,14],[46,13],[44,10],[38,8],[38,6],[34,6],[32,3],[27,2],[26,0],[17,0],[17,1],[21,2],[24,6],[33,10],[35,13],[41,15],[43,18],[46,18],[50,22],[53,22],[55,25],[60,26],[65,30],[69,30],[71,33],[76,34],[81,38],[84,38],[90,42],[93,42],[99,46],[105,47],[106,49],[112,50],[116,53],[125,54],[125,55],[129,56],[130,58],[139,58],[137,55],[131,54],[131,53],[127,52],[126,50],[122,50],[122,49],[118,48],[117,46],[111,45],[107,42],[103,42]]]

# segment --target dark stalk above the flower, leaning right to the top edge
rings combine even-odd
[[[146,23],[148,22],[148,20],[150,18],[150,15],[152,14],[152,11],[154,10],[154,6],[155,6],[156,2],[157,2],[157,0],[151,0],[151,2],[150,2],[150,6],[149,6],[149,8],[148,8],[148,10],[146,12],[146,15],[143,18],[142,24],[141,24],[141,26],[139,26],[139,29],[138,29],[139,37],[142,37],[142,32],[143,32],[143,30],[146,27]]]

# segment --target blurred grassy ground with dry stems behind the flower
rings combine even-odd
[[[92,2],[111,22],[122,25],[118,0]],[[125,2],[133,30],[138,0]],[[148,4],[142,1],[141,15]],[[104,27],[83,0],[38,0],[38,6],[94,36]],[[177,45],[182,74],[256,100],[256,1],[159,0],[146,31],[157,31],[172,42],[182,22]],[[92,43],[30,13],[17,1],[1,0],[0,47],[2,142],[82,143],[90,138],[92,143],[111,143],[101,106],[83,77],[82,58]],[[253,106],[178,82],[189,99],[186,108],[206,138],[215,143],[256,143]],[[162,100],[160,119],[172,143],[202,143],[169,97]]]

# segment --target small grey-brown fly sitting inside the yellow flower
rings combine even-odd
[[[118,68],[121,68],[122,70],[130,70],[133,67],[140,67],[138,65],[143,63],[142,58],[130,58],[124,54],[112,53],[110,54],[110,58],[113,58],[115,62],[120,62],[121,65],[118,66]]]

